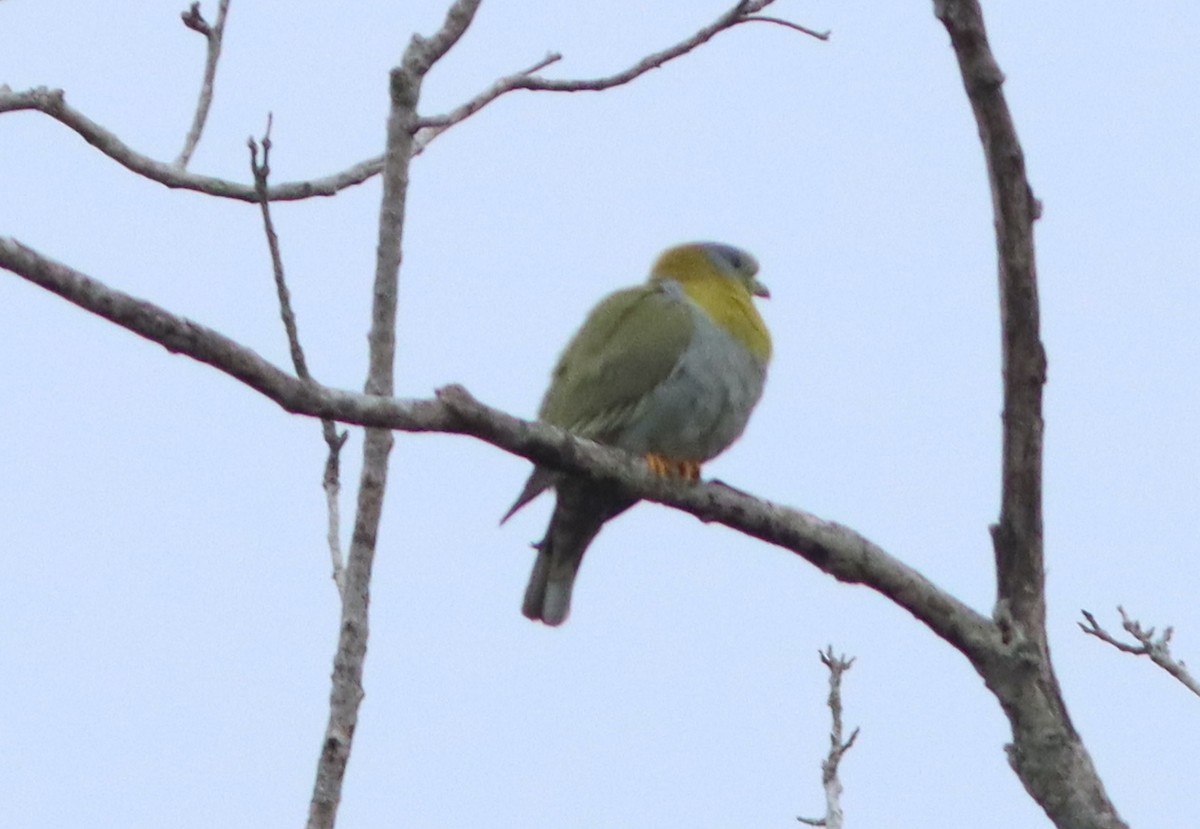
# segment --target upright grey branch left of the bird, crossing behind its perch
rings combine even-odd
[[[442,28],[432,37],[414,35],[400,66],[390,73],[391,107],[384,150],[383,197],[379,205],[379,239],[372,288],[371,330],[367,335],[367,397],[390,400],[395,389],[396,302],[402,260],[408,169],[413,160],[416,106],[425,74],[458,42],[474,19],[480,0],[455,0]],[[390,428],[368,428],[362,440],[362,471],[342,590],[342,618],[334,679],[329,698],[329,723],[317,761],[308,809],[308,829],[332,829],[342,797],[359,705],[362,702],[362,669],[370,633],[371,570],[374,564],[379,521],[388,483],[388,457],[395,438]]]

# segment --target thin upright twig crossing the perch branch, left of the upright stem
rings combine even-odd
[[[280,299],[280,317],[283,319],[283,330],[288,337],[288,349],[292,353],[292,365],[296,370],[296,377],[301,380],[311,382],[312,374],[308,372],[308,362],[304,356],[304,348],[300,346],[300,332],[296,326],[295,312],[292,310],[292,293],[283,277],[283,257],[280,253],[280,238],[275,233],[275,222],[271,221],[271,203],[266,198],[266,180],[271,174],[271,115],[266,116],[266,132],[263,134],[263,163],[258,163],[258,143],[253,138],[247,139],[250,146],[250,169],[254,176],[254,190],[258,191],[258,204],[263,212],[263,229],[266,233],[266,246],[271,251],[271,268],[275,271],[275,290]],[[322,487],[325,491],[325,513],[328,516],[325,540],[329,543],[329,555],[334,566],[334,584],[337,593],[346,593],[346,576],[341,542],[341,511],[338,500],[341,494],[341,453],[342,446],[349,432],[338,434],[337,426],[328,417],[320,420],[320,432],[329,447],[325,457],[325,471],[322,475]]]

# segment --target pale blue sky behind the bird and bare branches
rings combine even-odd
[[[61,86],[170,160],[203,60],[185,5],[8,0],[0,83]],[[377,155],[386,70],[444,6],[234,0],[192,169],[245,181],[268,110],[275,181]],[[725,5],[564,7],[485,2],[422,112],[548,50],[553,77],[616,71]],[[1045,204],[1058,675],[1123,817],[1193,827],[1200,702],[1075,620],[1116,626],[1123,603],[1200,663],[1200,7],[985,12]],[[776,361],[708,474],[990,612],[995,256],[947,36],[924,0],[773,13],[833,40],[748,25],[626,88],[514,94],[438,138],[413,170],[397,388],[461,382],[532,415],[587,308],[659,250],[746,247]],[[365,376],[378,191],[275,211],[310,365],[337,386]],[[257,209],[139,180],[30,113],[0,118],[0,234],[287,362]],[[300,825],[336,636],[318,425],[8,274],[0,376],[0,822]],[[355,434],[347,481],[359,451]],[[982,681],[880,596],[643,505],[548,630],[518,609],[548,499],[497,527],[527,464],[430,435],[392,457],[341,827],[796,825],[822,809],[830,642],[858,657],[848,827],[1049,825]]]

